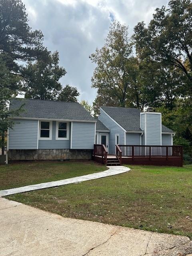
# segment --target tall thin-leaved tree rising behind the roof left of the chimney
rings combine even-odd
[[[128,38],[128,27],[119,22],[110,26],[106,43],[90,55],[96,68],[92,77],[92,87],[100,94],[112,98],[118,106],[126,106],[126,96],[130,89],[129,62],[132,46]]]

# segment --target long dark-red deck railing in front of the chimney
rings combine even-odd
[[[122,156],[164,156],[166,158],[172,156],[183,156],[182,146],[133,146],[133,145],[119,145],[122,151]]]

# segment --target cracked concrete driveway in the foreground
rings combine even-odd
[[[0,198],[1,256],[183,256],[192,242],[173,236],[63,218]]]

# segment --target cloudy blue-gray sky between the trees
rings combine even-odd
[[[97,90],[91,88],[95,64],[89,59],[104,45],[111,22],[129,27],[129,35],[141,21],[150,22],[154,10],[167,0],[23,0],[33,30],[42,30],[44,46],[58,50],[60,66],[67,74],[62,86],[75,86],[78,100],[94,101]]]

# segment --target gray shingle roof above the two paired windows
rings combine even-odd
[[[17,109],[22,104],[24,112],[19,117],[95,121],[78,102],[14,98],[10,102],[10,109]]]

